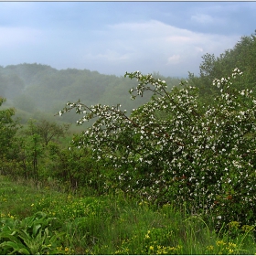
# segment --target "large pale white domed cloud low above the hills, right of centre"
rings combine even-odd
[[[116,24],[101,33],[104,39],[94,41],[90,52],[84,48],[83,61],[94,62],[95,69],[98,64],[100,72],[112,69],[112,73],[120,75],[127,69],[159,71],[170,76],[181,76],[187,71],[197,74],[204,54],[218,56],[233,48],[240,38],[192,32],[156,20]],[[101,61],[108,67],[101,66]]]

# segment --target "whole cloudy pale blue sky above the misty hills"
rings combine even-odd
[[[0,66],[199,74],[256,27],[256,2],[0,2]]]

